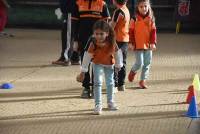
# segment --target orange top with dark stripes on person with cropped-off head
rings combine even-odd
[[[80,18],[83,17],[93,17],[102,18],[101,13],[103,11],[103,6],[105,2],[103,0],[77,0],[78,10]]]

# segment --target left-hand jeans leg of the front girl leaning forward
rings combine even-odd
[[[101,65],[93,64],[94,72],[94,99],[95,106],[102,107],[102,83],[104,68]]]

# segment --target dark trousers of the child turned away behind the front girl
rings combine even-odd
[[[124,85],[125,78],[126,78],[126,58],[127,58],[127,51],[128,51],[128,43],[127,42],[117,42],[119,49],[122,51],[123,55],[123,67],[120,69],[118,73],[115,73],[115,87],[120,87]]]

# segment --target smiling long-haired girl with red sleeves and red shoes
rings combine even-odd
[[[152,61],[152,50],[156,49],[156,26],[149,0],[138,0],[136,17],[130,22],[130,42],[135,51],[136,62],[131,68],[128,80],[132,82],[137,71],[142,68],[139,86],[147,88],[145,80],[148,77]]]

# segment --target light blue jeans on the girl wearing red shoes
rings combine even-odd
[[[140,80],[146,80],[149,75],[150,64],[152,61],[152,50],[136,50],[136,62],[131,68],[133,72],[137,72],[142,68]]]

